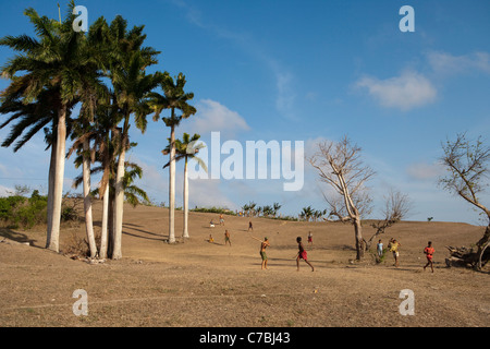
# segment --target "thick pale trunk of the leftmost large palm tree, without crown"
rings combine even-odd
[[[64,158],[66,147],[66,106],[58,111],[57,157],[54,168],[54,185],[52,197],[52,225],[48,231],[46,248],[60,252],[61,203],[63,200]]]

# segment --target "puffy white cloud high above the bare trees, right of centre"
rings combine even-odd
[[[400,76],[387,80],[365,76],[356,86],[366,87],[381,106],[404,111],[432,103],[438,94],[426,76],[414,71],[404,71]]]

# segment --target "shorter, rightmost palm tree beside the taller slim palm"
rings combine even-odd
[[[188,174],[187,174],[187,161],[188,159],[194,159],[199,164],[200,167],[207,172],[208,168],[203,161],[201,158],[197,157],[197,153],[199,149],[204,148],[206,145],[203,143],[196,144],[196,142],[200,139],[200,135],[195,133],[192,137],[188,133],[184,133],[181,140],[175,140],[175,161],[181,159],[185,160],[184,164],[184,230],[182,233],[183,238],[188,238]],[[170,140],[169,145],[162,151],[163,155],[170,154]],[[163,166],[163,168],[168,167],[170,161]]]

